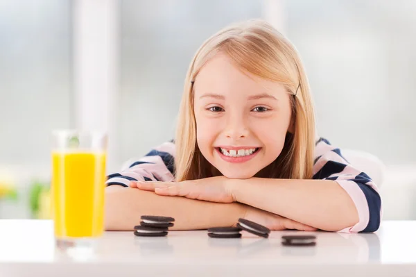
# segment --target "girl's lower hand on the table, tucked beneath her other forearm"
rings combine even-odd
[[[288,219],[286,217],[281,217],[275,215],[271,212],[266,212],[265,210],[260,210],[254,208],[250,205],[245,205],[245,215],[244,219],[257,222],[263,226],[266,226],[270,230],[305,230],[305,231],[315,231],[317,230],[314,227],[302,224],[300,222]]]

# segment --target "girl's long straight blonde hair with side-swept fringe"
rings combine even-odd
[[[315,117],[309,83],[295,47],[262,20],[232,24],[209,37],[193,57],[184,83],[176,131],[176,181],[213,176],[196,142],[193,81],[205,63],[225,53],[242,71],[281,83],[291,96],[293,134],[286,135],[281,154],[268,166],[268,178],[312,178]]]

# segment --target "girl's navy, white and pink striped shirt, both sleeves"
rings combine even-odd
[[[172,182],[175,180],[174,158],[175,144],[165,142],[146,156],[125,162],[119,173],[107,176],[106,184],[128,187],[130,181]],[[370,176],[350,165],[340,149],[322,137],[316,142],[313,179],[336,181],[354,202],[359,221],[340,232],[367,233],[379,228],[381,197],[378,188]]]

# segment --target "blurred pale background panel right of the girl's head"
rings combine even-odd
[[[416,162],[416,1],[286,1],[318,129],[386,164]]]

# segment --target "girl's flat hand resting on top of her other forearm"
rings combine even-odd
[[[140,182],[132,181],[130,187],[148,190],[162,196],[184,196],[211,202],[232,203],[231,184],[234,180],[224,176],[203,178],[183,182]]]

